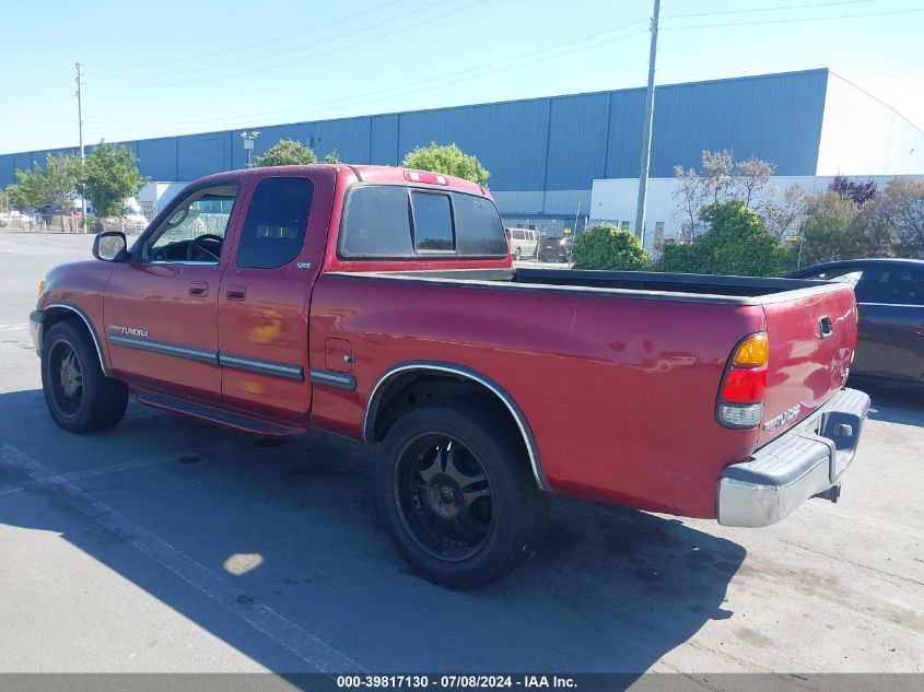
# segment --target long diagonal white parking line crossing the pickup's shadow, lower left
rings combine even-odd
[[[52,486],[74,508],[126,539],[133,548],[159,562],[255,630],[266,634],[318,672],[365,672],[365,668],[353,659],[280,615],[269,606],[243,594],[238,587],[203,564],[5,442],[0,442],[0,462],[23,471],[33,482]]]

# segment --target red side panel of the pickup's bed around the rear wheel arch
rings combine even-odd
[[[432,285],[321,274],[311,359],[352,343],[356,390],[315,387],[313,420],[362,437],[375,384],[409,361],[458,364],[523,410],[553,490],[687,516],[715,516],[722,469],[757,431],[715,421],[722,373],[762,308],[548,289]]]

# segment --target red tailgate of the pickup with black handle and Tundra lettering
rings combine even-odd
[[[853,288],[767,303],[770,363],[758,446],[796,425],[844,386],[856,344]]]

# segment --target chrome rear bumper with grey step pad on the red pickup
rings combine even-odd
[[[828,492],[837,499],[841,476],[853,461],[868,412],[866,394],[841,389],[797,427],[755,451],[748,461],[727,467],[718,482],[718,523],[770,526],[812,495]]]

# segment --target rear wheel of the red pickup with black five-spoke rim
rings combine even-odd
[[[550,496],[496,421],[493,406],[453,398],[410,411],[385,437],[379,512],[398,552],[436,584],[493,582],[546,536]]]

